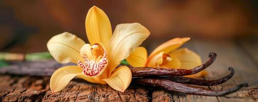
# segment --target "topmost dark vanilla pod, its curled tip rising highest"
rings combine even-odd
[[[153,77],[153,76],[183,76],[195,74],[210,66],[216,59],[215,53],[209,54],[209,60],[195,68],[187,69],[172,69],[172,68],[153,68],[153,67],[132,67],[129,66],[133,77]]]

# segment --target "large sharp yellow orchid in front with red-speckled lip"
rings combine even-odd
[[[61,91],[74,77],[79,77],[124,92],[132,74],[127,66],[116,67],[150,32],[140,23],[124,23],[116,26],[112,36],[108,16],[95,6],[88,11],[85,27],[90,44],[67,32],[48,41],[48,50],[57,62],[77,64],[57,69],[51,76],[50,89]]]

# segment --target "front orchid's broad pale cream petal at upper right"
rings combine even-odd
[[[118,24],[108,44],[108,73],[137,48],[150,32],[140,23]]]

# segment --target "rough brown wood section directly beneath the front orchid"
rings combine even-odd
[[[61,92],[47,91],[43,101],[148,101],[148,91],[142,88],[128,88],[118,92],[107,85],[72,81]]]

